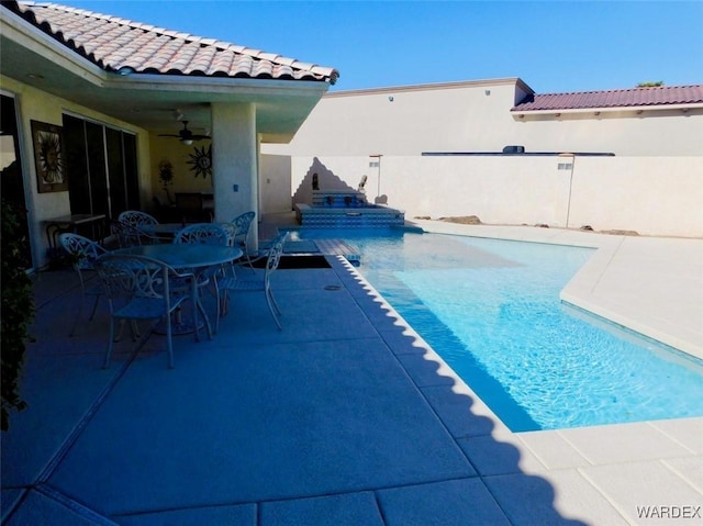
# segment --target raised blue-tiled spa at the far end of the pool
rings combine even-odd
[[[314,190],[312,205],[295,203],[295,217],[304,227],[387,228],[403,226],[405,213],[381,204],[369,204],[356,190]]]

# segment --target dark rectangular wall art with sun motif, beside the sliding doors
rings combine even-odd
[[[32,143],[37,191],[40,193],[68,191],[62,127],[32,121]]]

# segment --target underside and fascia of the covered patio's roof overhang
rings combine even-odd
[[[177,111],[189,121],[190,130],[203,133],[211,128],[213,102],[254,103],[263,141],[288,142],[336,79],[330,68],[321,68],[334,71],[326,81],[324,76],[308,80],[169,75],[154,68],[120,71],[115,65],[97,64],[94,55],[89,59],[62,44],[65,36],[53,33],[58,31],[54,26],[51,31],[46,24],[38,27],[7,9],[0,9],[0,14],[2,75],[153,133],[177,133],[181,128]]]

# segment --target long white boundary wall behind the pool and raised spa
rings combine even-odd
[[[388,198],[405,217],[477,215],[488,224],[547,224],[640,235],[703,237],[703,157],[576,157],[573,175],[549,157],[383,157],[380,191],[368,157],[294,157],[292,188],[324,167],[367,199]],[[324,189],[324,184],[321,184]],[[569,191],[571,190],[571,191]],[[568,217],[568,224],[567,224]]]

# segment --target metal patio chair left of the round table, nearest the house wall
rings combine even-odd
[[[92,321],[92,318],[96,317],[96,310],[98,309],[100,296],[104,294],[104,287],[100,281],[90,283],[89,281],[94,278],[96,259],[103,254],[107,254],[108,250],[102,248],[97,242],[78,234],[64,233],[58,236],[58,239],[64,247],[64,250],[68,253],[74,270],[76,270],[78,279],[80,280],[80,303],[78,304],[78,311],[76,312],[74,324],[70,327],[70,333],[68,333],[69,336],[74,336],[76,334],[76,327],[78,326],[78,321],[80,320],[80,314],[82,313],[87,295],[94,296],[92,311],[90,312],[90,317],[88,320]]]

